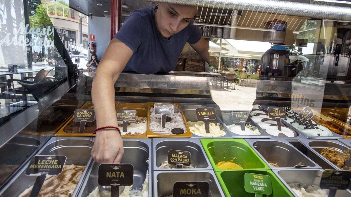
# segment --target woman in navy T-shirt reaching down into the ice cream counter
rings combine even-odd
[[[114,83],[123,70],[141,74],[170,72],[186,42],[210,62],[208,42],[193,25],[196,13],[194,6],[159,3],[128,16],[108,45],[93,80],[97,128],[118,127]],[[97,131],[91,155],[98,163],[119,163],[123,143],[118,131],[111,128]]]

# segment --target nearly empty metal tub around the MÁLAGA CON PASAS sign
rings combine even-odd
[[[167,161],[168,150],[188,151],[191,154],[191,166],[194,168],[164,169],[159,166]],[[212,170],[210,161],[200,143],[200,139],[153,139],[153,170]]]

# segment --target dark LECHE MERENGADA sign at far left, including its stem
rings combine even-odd
[[[26,175],[37,176],[30,196],[38,196],[46,175],[58,175],[66,163],[66,156],[36,155],[32,157],[26,169]]]

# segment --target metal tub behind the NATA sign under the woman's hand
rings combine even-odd
[[[151,139],[123,139],[123,145],[124,154],[121,163],[134,166],[132,190],[143,188],[146,171],[148,171],[148,196],[152,196]],[[147,160],[148,162],[146,162]],[[93,162],[78,196],[86,197],[98,186],[98,170],[99,163]]]

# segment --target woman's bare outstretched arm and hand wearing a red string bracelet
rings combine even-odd
[[[116,54],[118,51],[118,55]],[[132,50],[117,39],[112,39],[100,66],[96,71],[92,86],[97,128],[118,127],[114,83],[133,55]],[[123,156],[123,143],[115,129],[103,129],[97,132],[91,155],[98,163],[119,163]]]

